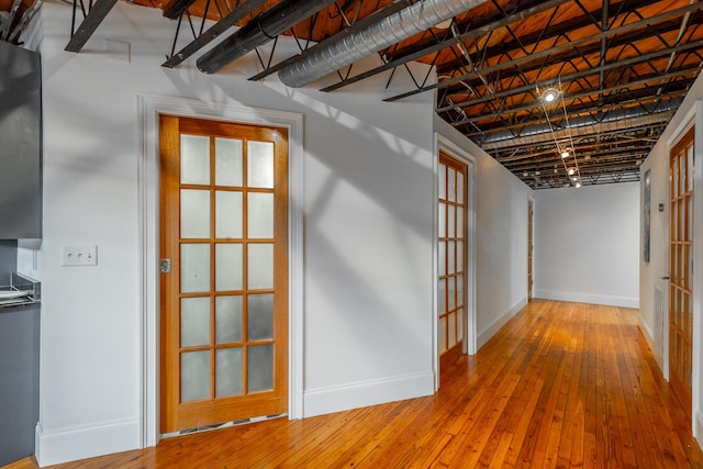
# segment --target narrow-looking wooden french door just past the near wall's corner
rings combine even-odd
[[[461,353],[467,284],[467,166],[439,153],[439,356]]]

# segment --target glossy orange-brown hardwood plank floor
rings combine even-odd
[[[433,397],[56,467],[703,468],[703,455],[635,310],[534,300]]]

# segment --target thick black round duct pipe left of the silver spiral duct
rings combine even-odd
[[[214,74],[334,2],[335,0],[282,0],[198,58],[198,69]]]

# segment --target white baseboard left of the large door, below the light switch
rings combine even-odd
[[[136,420],[52,432],[45,432],[40,423],[35,437],[40,467],[141,447]]]

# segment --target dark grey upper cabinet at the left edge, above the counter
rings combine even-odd
[[[0,41],[0,239],[42,237],[40,54]]]

